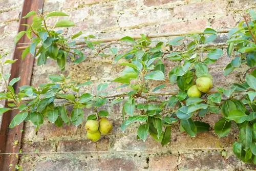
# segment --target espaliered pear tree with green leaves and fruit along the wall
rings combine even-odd
[[[222,118],[215,123],[214,131],[221,138],[231,131],[231,125],[239,129],[239,138],[233,143],[233,153],[245,163],[256,163],[256,14],[251,10],[244,16],[238,28],[228,33],[225,44],[212,44],[217,38],[217,31],[206,28],[200,34],[179,36],[166,43],[150,39],[141,34],[141,38],[134,39],[126,36],[120,40],[110,42],[95,41],[93,35],[84,37],[83,41],[73,39],[81,36],[80,31],[71,37],[62,34],[62,27],[72,27],[70,20],[59,20],[54,26],[47,26],[48,18],[68,16],[63,12],[52,12],[42,15],[35,11],[29,12],[26,17],[33,17],[31,25],[25,25],[26,31],[19,32],[15,38],[17,42],[22,36],[31,39],[31,44],[24,48],[22,58],[32,54],[37,59],[37,65],[46,64],[47,58],[56,60],[60,70],[65,70],[66,61],[86,62],[88,56],[80,48],[91,49],[90,57],[114,57],[116,62],[125,66],[120,76],[113,82],[120,83],[119,88],[126,87],[127,92],[110,94],[106,91],[108,83],[97,86],[97,93],[81,92],[81,87],[90,86],[90,80],[76,83],[64,75],[49,75],[51,83],[45,83],[35,88],[23,86],[15,92],[13,85],[20,78],[9,81],[10,74],[3,72],[3,66],[13,63],[6,60],[0,63],[2,67],[1,79],[6,91],[0,93],[0,98],[8,101],[8,107],[1,108],[0,114],[10,110],[18,110],[9,127],[14,127],[23,121],[32,122],[36,130],[47,119],[62,126],[63,124],[82,124],[84,108],[92,108],[95,112],[87,116],[84,129],[86,137],[98,141],[102,135],[111,133],[112,122],[107,118],[109,112],[100,110],[108,98],[115,98],[112,104],[123,104],[123,122],[121,130],[134,122],[140,123],[137,138],[145,141],[148,135],[162,145],[170,141],[173,125],[180,125],[180,130],[188,136],[196,137],[200,132],[209,131],[210,125],[202,121],[193,120],[193,116],[204,117],[207,113],[216,113]],[[125,52],[119,52],[112,45],[125,47]],[[184,46],[179,50],[179,46]],[[240,82],[233,82],[229,88],[215,87],[214,79],[209,73],[208,65],[215,63],[226,53],[220,46],[227,47],[227,56],[231,62],[226,66],[224,75],[227,76],[237,68],[245,69],[245,75]],[[176,50],[175,50],[176,49]],[[2,55],[1,57],[4,57]],[[3,61],[3,60],[2,60]],[[122,62],[120,62],[122,61]],[[174,61],[177,65],[165,68],[164,61]],[[177,84],[176,92],[159,92],[166,87],[160,84],[157,87],[148,86],[152,81],[161,83],[165,80],[168,70],[169,84]],[[225,80],[222,80],[225,81]],[[115,89],[115,90],[116,90]],[[168,97],[163,100],[162,95]],[[124,97],[125,98],[122,98]],[[138,100],[136,99],[143,99]],[[61,101],[55,103],[55,101]],[[72,106],[71,113],[67,106]],[[125,119],[126,118],[126,119]]]

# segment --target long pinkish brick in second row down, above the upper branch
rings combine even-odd
[[[191,31],[202,31],[207,27],[207,19],[188,20],[186,22],[162,24],[159,32],[186,33]]]

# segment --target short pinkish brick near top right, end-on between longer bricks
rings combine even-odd
[[[214,23],[211,27],[214,29],[225,29],[233,28],[236,26],[236,24],[236,20],[234,20],[234,18],[229,15],[214,19]]]

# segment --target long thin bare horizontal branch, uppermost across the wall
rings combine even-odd
[[[216,30],[218,34],[228,33],[231,29],[220,29]],[[193,34],[209,34],[204,33],[203,31],[191,31],[189,33],[158,33],[158,34],[148,34],[147,37],[149,38],[160,38],[160,37],[175,37],[175,36],[188,36]],[[122,37],[111,37],[111,38],[99,38],[99,39],[92,39],[91,41],[97,42],[111,42],[111,41],[120,41]],[[140,39],[140,35],[132,36],[134,39]],[[19,45],[19,44],[18,44]],[[86,47],[86,41],[80,40],[76,41],[76,45],[82,45],[82,47]],[[26,49],[28,46],[17,47],[17,49]],[[38,46],[37,48],[39,48]]]

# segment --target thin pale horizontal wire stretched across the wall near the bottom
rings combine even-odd
[[[134,153],[134,152],[160,152],[160,151],[184,151],[184,150],[202,150],[202,149],[232,149],[232,147],[204,147],[204,148],[168,148],[168,149],[138,149],[121,151],[75,151],[75,152],[21,152],[21,153],[0,153],[0,155],[13,154],[67,154],[67,153]]]

